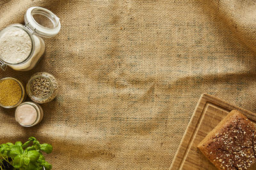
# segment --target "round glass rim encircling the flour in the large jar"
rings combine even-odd
[[[26,57],[26,59],[22,60],[22,62],[18,62],[18,63],[6,62],[5,60],[2,59],[1,56],[0,56],[0,60],[3,61],[4,64],[7,64],[9,66],[19,66],[20,64],[24,64],[24,62],[27,62],[31,58],[31,56],[33,55],[33,52],[35,50],[35,41],[32,38],[32,34],[29,31],[29,29],[27,27],[25,27],[24,25],[22,25],[22,24],[12,24],[12,25],[9,25],[8,27],[6,27],[6,28],[4,28],[3,30],[0,31],[0,37],[1,37],[1,34],[3,34],[4,32],[8,31],[8,29],[10,29],[12,27],[16,27],[16,28],[22,29],[23,31],[25,31],[28,34],[28,36],[29,36],[29,38],[31,40],[31,51],[30,51],[28,57]]]

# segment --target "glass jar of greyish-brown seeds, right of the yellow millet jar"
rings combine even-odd
[[[26,86],[27,94],[35,103],[47,103],[58,94],[58,83],[52,74],[40,72],[33,74]]]

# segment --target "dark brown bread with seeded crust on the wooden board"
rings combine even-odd
[[[233,110],[197,146],[218,169],[247,169],[256,162],[256,127]]]

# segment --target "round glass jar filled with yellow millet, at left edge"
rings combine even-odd
[[[6,77],[0,80],[0,106],[15,108],[24,101],[26,92],[22,83],[16,78]]]

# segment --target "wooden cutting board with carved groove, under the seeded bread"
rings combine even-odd
[[[216,167],[204,157],[196,146],[231,110],[239,110],[252,122],[256,122],[255,113],[209,94],[202,94],[172,161],[170,170],[216,170]],[[250,167],[250,169],[256,169],[256,165]]]

